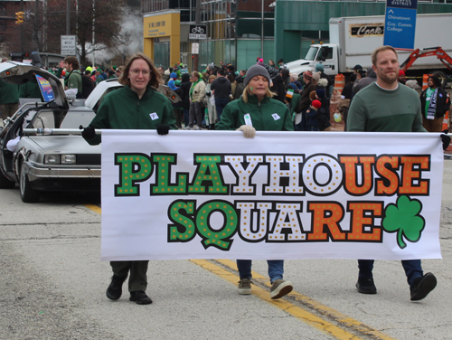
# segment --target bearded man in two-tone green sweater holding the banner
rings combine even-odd
[[[348,113],[348,131],[427,132],[422,126],[418,93],[400,84],[399,60],[391,46],[381,46],[372,52],[372,69],[377,81],[360,90]],[[450,137],[442,135],[443,148]],[[448,139],[448,140],[447,140]],[[374,260],[358,260],[359,276],[356,288],[362,294],[376,294],[372,269]],[[437,286],[432,273],[423,274],[420,260],[402,260],[412,301],[427,297]]]

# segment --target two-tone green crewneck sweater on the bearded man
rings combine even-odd
[[[422,126],[418,92],[402,84],[396,90],[383,90],[372,83],[353,97],[347,130],[427,132]]]

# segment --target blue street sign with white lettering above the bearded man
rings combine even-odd
[[[413,50],[418,0],[387,0],[384,21],[384,45]]]

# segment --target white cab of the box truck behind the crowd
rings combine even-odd
[[[311,45],[305,59],[287,62],[286,66],[290,73],[299,75],[308,70],[314,71],[319,62],[324,65],[326,74],[337,74],[337,46],[334,43]]]

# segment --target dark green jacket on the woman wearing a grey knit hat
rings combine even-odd
[[[248,103],[243,97],[231,101],[223,109],[221,121],[215,125],[216,130],[235,130],[247,125],[245,115],[250,114],[252,127],[257,131],[293,131],[292,116],[287,106],[276,99],[266,97],[259,103],[256,96],[248,96]],[[250,124],[248,124],[250,125]]]

